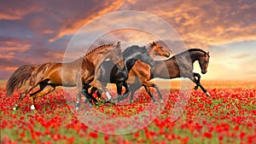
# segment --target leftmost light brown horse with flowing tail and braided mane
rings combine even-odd
[[[113,60],[114,64],[120,69],[125,69],[120,43],[102,45],[78,60],[68,63],[48,62],[42,65],[20,66],[9,78],[6,86],[7,96],[12,95],[15,89],[19,89],[28,81],[28,86],[20,93],[19,101],[13,108],[16,110],[25,96],[39,85],[38,91],[30,95],[31,109],[33,110],[35,109],[34,100],[49,94],[55,90],[56,86],[77,86],[76,108],[78,109],[83,84],[90,84],[93,81],[98,66],[107,58]],[[108,93],[104,88],[98,87],[98,89]]]

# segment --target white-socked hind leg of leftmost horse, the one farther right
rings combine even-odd
[[[42,88],[42,89],[41,89]],[[50,92],[55,90],[55,85],[54,84],[44,84],[42,85],[42,87],[40,87],[40,89],[33,93],[32,95],[30,95],[30,101],[31,101],[31,110],[36,109],[36,107],[34,106],[34,101],[41,96],[47,95]]]

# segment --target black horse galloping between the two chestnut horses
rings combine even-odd
[[[121,96],[121,89],[122,85],[125,87],[125,93],[129,92],[129,86],[128,84],[125,83],[125,80],[128,78],[128,73],[131,70],[131,67],[135,64],[136,60],[142,60],[144,63],[148,64],[149,66],[154,66],[154,60],[151,58],[151,56],[147,52],[148,49],[145,47],[141,48],[137,45],[132,45],[131,47],[128,47],[125,49],[123,52],[124,55],[124,60],[125,60],[125,66],[126,66],[126,71],[119,71],[118,67],[113,64],[111,60],[105,60],[102,63],[101,69],[102,72],[100,73],[101,77],[99,80],[102,82],[103,85],[107,85],[108,83],[110,84],[116,84],[117,87],[117,92],[118,92],[118,97]],[[101,92],[99,89],[96,89],[93,87],[90,90],[90,94],[88,89],[90,89],[90,85],[84,85],[84,91],[82,94],[87,98],[86,102],[90,102],[90,106],[92,106],[92,101],[95,101],[96,105],[98,101],[96,100],[95,97],[92,96],[93,93],[96,92],[97,90],[97,96],[101,97]],[[88,97],[90,97],[88,99]]]

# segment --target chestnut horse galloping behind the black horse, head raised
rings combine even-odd
[[[144,53],[148,53],[148,56],[150,56],[152,59],[154,59],[154,57],[156,55],[166,56],[166,57],[169,57],[169,55],[170,55],[166,49],[163,49],[163,47],[160,46],[160,44],[153,42],[153,43],[150,43],[150,46],[148,47],[148,49],[146,49],[144,47],[140,48],[140,49],[138,49],[136,47],[133,47],[132,49],[127,49],[127,51],[124,52],[124,56],[127,55],[127,58],[129,58],[129,57],[131,57],[131,54],[137,50],[142,50]],[[127,69],[131,69],[131,71],[129,72],[129,75],[128,75],[128,79],[127,80],[125,79],[127,84],[134,84],[134,83],[137,83],[137,81],[139,81],[144,86],[154,87],[155,89],[157,89],[157,91],[159,92],[159,95],[161,97],[162,94],[160,93],[158,86],[155,85],[154,83],[149,82],[149,78],[151,76],[150,75],[151,74],[150,73],[150,68],[151,68],[150,65],[148,66],[148,64],[144,63],[141,60],[136,60],[134,62],[134,64],[130,67],[131,68],[127,68]],[[140,68],[138,68],[138,67],[140,67]],[[142,68],[142,67],[144,67],[144,68]],[[103,69],[103,71],[104,70],[106,71],[106,69],[108,69],[108,66],[104,67],[104,65],[102,65],[102,69]],[[103,74],[102,78],[106,78],[106,77],[108,78],[108,76],[105,76],[104,73],[102,73],[102,74]],[[147,75],[148,77],[143,77],[145,75]],[[112,78],[110,78],[110,82],[111,82],[111,79]],[[102,80],[104,81],[106,79],[102,79]],[[106,82],[106,81],[104,81],[104,82]],[[109,81],[107,81],[107,83],[109,83]],[[118,88],[119,92],[121,91],[121,86],[122,85],[120,85],[120,87]],[[139,87],[141,87],[141,84]],[[125,94],[123,95],[123,97],[119,97],[118,101],[121,101],[121,100],[127,98],[127,96],[129,95],[128,87],[125,86],[125,88],[126,88]],[[92,92],[94,92],[94,91],[92,91]],[[153,98],[153,95],[150,95],[150,96]]]

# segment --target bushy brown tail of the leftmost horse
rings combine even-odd
[[[33,66],[20,66],[9,78],[6,91],[7,96],[13,95],[15,89],[19,89],[32,75]]]

